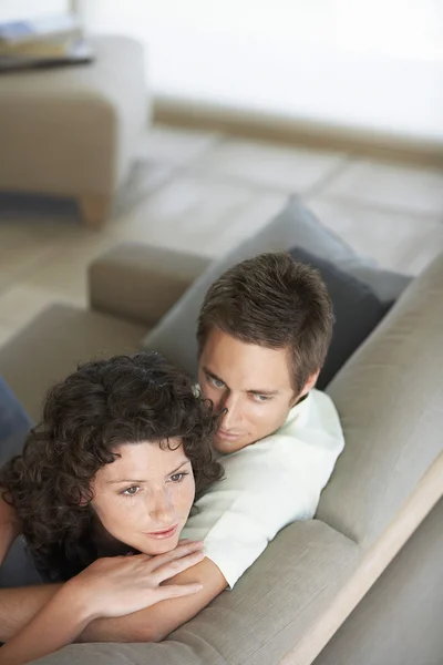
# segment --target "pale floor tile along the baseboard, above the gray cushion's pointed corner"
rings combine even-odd
[[[308,193],[347,164],[344,153],[228,140],[195,163],[195,172],[223,175],[287,193]]]

